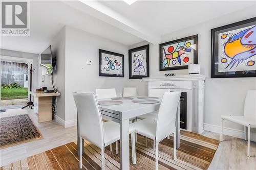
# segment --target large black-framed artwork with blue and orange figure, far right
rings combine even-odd
[[[256,77],[256,17],[211,30],[211,78]]]

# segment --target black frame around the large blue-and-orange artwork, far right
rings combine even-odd
[[[211,29],[211,78],[256,77],[256,70],[219,72],[218,34],[256,25],[256,17]],[[217,40],[217,41],[216,41]],[[256,50],[256,47],[254,48]],[[256,64],[256,63],[255,63]],[[231,67],[231,66],[230,66]]]

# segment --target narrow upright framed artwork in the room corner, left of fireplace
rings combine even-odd
[[[150,45],[129,50],[129,79],[150,77]]]

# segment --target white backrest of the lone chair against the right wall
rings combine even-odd
[[[256,90],[248,90],[246,93],[244,116],[256,118]]]

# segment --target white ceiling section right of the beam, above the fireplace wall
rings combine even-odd
[[[130,6],[123,1],[100,3],[161,36],[242,10],[256,1],[136,1]]]

